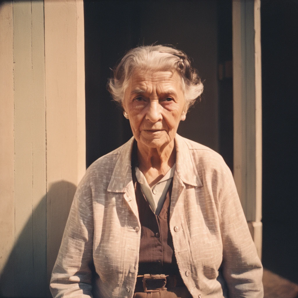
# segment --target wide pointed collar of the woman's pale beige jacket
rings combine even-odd
[[[132,181],[131,174],[131,153],[134,145],[134,137],[119,148],[119,158],[114,167],[111,181],[108,185],[108,192],[125,193],[130,188]],[[176,169],[175,173],[185,183],[192,186],[202,186],[198,170],[193,164],[190,149],[184,138],[176,134]],[[132,186],[132,185],[131,185]],[[133,186],[132,186],[133,187]]]

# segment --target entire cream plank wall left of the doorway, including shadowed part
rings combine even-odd
[[[0,295],[50,297],[86,170],[83,1],[0,6]]]

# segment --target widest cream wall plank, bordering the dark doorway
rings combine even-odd
[[[47,274],[86,170],[83,1],[45,1]]]

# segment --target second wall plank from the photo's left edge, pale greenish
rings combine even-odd
[[[15,104],[15,292],[32,295],[32,47],[31,1],[13,2]],[[27,297],[28,297],[27,296]]]

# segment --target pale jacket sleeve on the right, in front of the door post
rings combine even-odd
[[[226,164],[221,189],[222,270],[229,298],[262,298],[263,267],[249,232],[232,173]]]

